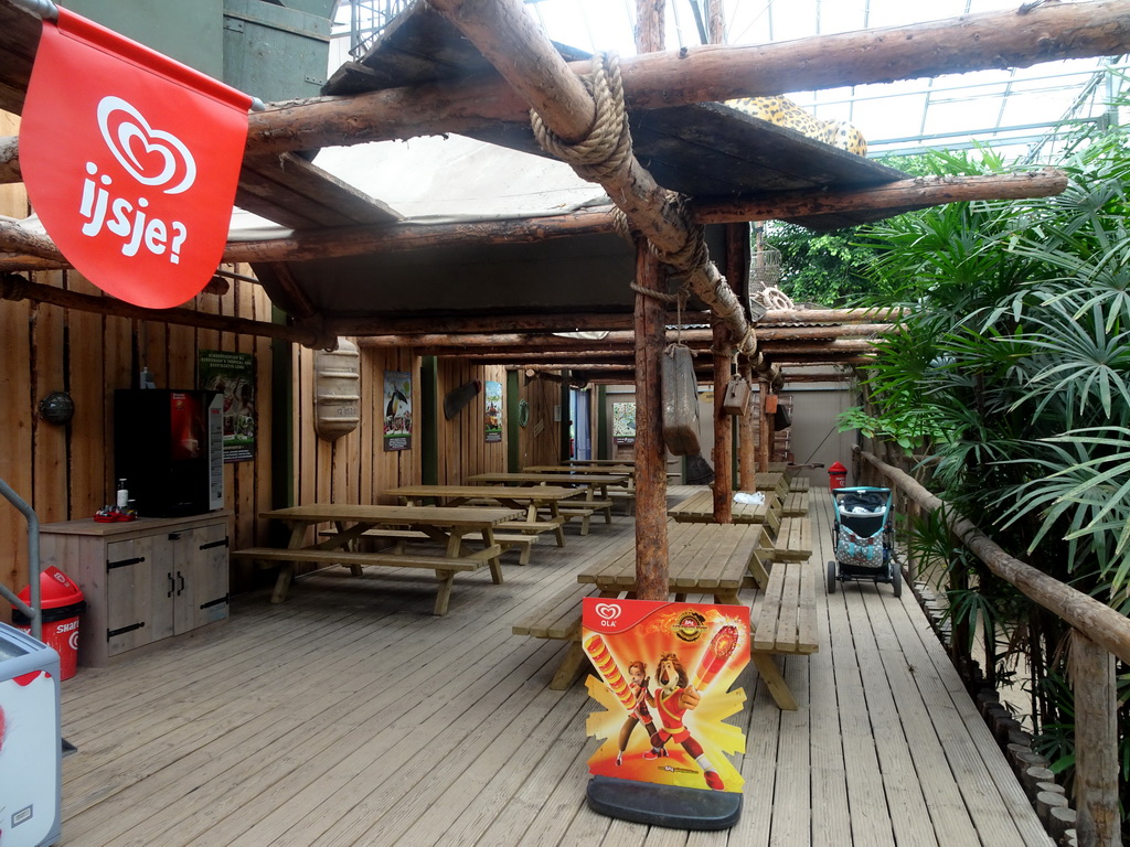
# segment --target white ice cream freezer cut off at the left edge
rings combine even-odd
[[[0,847],[59,840],[59,654],[0,622]]]

